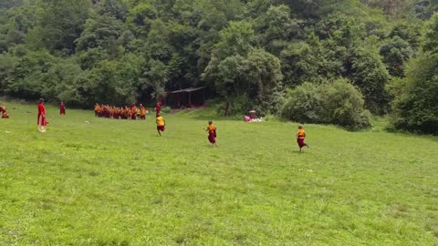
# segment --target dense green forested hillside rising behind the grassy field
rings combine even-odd
[[[438,15],[421,0],[4,0],[0,95],[126,105],[208,87],[351,128],[438,132]]]

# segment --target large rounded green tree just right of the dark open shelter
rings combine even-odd
[[[279,59],[259,49],[246,56],[237,54],[223,60],[214,57],[203,74],[235,113],[250,108],[276,113],[282,77]]]

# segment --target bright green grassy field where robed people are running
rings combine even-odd
[[[438,245],[438,138],[164,115],[0,120],[1,245]],[[15,108],[15,109],[13,109]],[[30,113],[28,113],[30,112]]]

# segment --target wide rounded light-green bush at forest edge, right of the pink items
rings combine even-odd
[[[345,79],[315,85],[304,83],[288,91],[281,115],[304,122],[336,124],[350,129],[370,127],[360,91]]]

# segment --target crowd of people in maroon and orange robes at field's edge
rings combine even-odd
[[[124,108],[109,106],[109,105],[99,105],[94,106],[94,114],[96,117],[102,118],[116,118],[116,119],[146,119],[146,114],[149,113],[148,108],[144,108],[143,105],[137,107],[132,104],[129,107]]]

